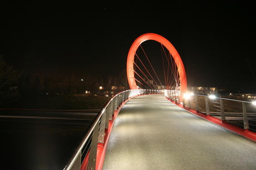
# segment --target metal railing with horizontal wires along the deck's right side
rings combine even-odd
[[[226,99],[214,95],[195,95],[174,90],[165,90],[165,96],[203,114],[256,132],[256,102]]]

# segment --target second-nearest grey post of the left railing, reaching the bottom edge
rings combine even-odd
[[[87,169],[96,169],[97,145],[98,145],[99,122],[92,132],[91,147]]]

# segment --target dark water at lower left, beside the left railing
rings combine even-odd
[[[87,127],[0,118],[0,169],[63,169]]]

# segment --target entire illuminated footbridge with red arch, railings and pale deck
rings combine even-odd
[[[131,90],[107,102],[65,169],[256,169],[252,102],[186,94],[178,51],[154,33],[131,45],[126,72]]]

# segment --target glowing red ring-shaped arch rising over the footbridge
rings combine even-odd
[[[127,79],[130,85],[130,89],[138,89],[135,77],[134,77],[134,56],[136,53],[137,48],[139,48],[140,44],[145,42],[146,40],[155,40],[156,42],[159,42],[165,46],[166,49],[169,50],[170,54],[173,56],[174,61],[178,67],[178,72],[180,76],[180,91],[181,92],[186,92],[186,73],[185,73],[185,68],[183,65],[183,62],[180,58],[180,55],[174,48],[174,46],[164,37],[161,35],[155,34],[155,33],[147,33],[140,35],[134,43],[132,43],[131,48],[128,53],[127,57],[127,66],[126,66],[126,71],[127,71]]]

